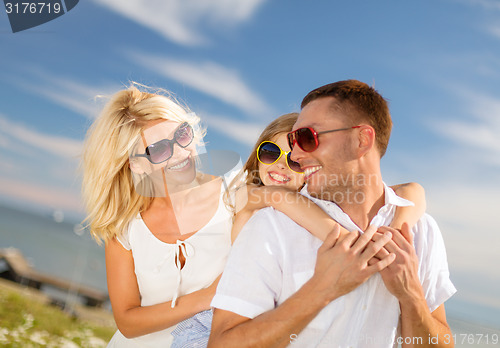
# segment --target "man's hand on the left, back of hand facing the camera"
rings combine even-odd
[[[373,259],[391,241],[391,233],[381,234],[372,241],[376,226],[368,227],[361,236],[349,232],[340,238],[339,229],[335,226],[318,249],[314,275],[309,281],[327,303],[351,292],[395,259],[392,252],[387,252],[381,260]]]

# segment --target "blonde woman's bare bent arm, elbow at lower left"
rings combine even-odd
[[[113,238],[106,245],[106,276],[113,316],[120,332],[127,338],[166,329],[198,312],[210,309],[218,280],[206,289],[180,296],[176,306],[171,301],[141,306],[141,296],[134,273],[132,252]]]

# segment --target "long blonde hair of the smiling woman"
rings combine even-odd
[[[141,91],[138,86],[153,93]],[[136,83],[114,94],[87,131],[82,196],[87,211],[85,221],[98,243],[121,235],[153,201],[153,197],[136,192],[129,151],[148,123],[159,119],[188,122],[195,130],[194,143],[201,143],[205,131],[198,126],[200,119],[194,113],[167,91],[152,91]]]

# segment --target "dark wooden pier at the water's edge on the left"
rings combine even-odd
[[[104,291],[38,272],[15,248],[0,249],[0,278],[39,290],[44,286],[50,286],[71,292],[80,297],[86,306],[101,307],[109,299]]]

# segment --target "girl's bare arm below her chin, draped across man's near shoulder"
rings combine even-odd
[[[231,231],[233,242],[253,213],[266,207],[273,207],[288,215],[293,221],[322,241],[337,225],[337,222],[313,201],[297,191],[279,186],[247,186],[247,192],[248,202],[245,208],[236,214]],[[305,210],[307,210],[307,214],[304,214]],[[342,226],[340,226],[340,229],[341,234],[347,232]]]

